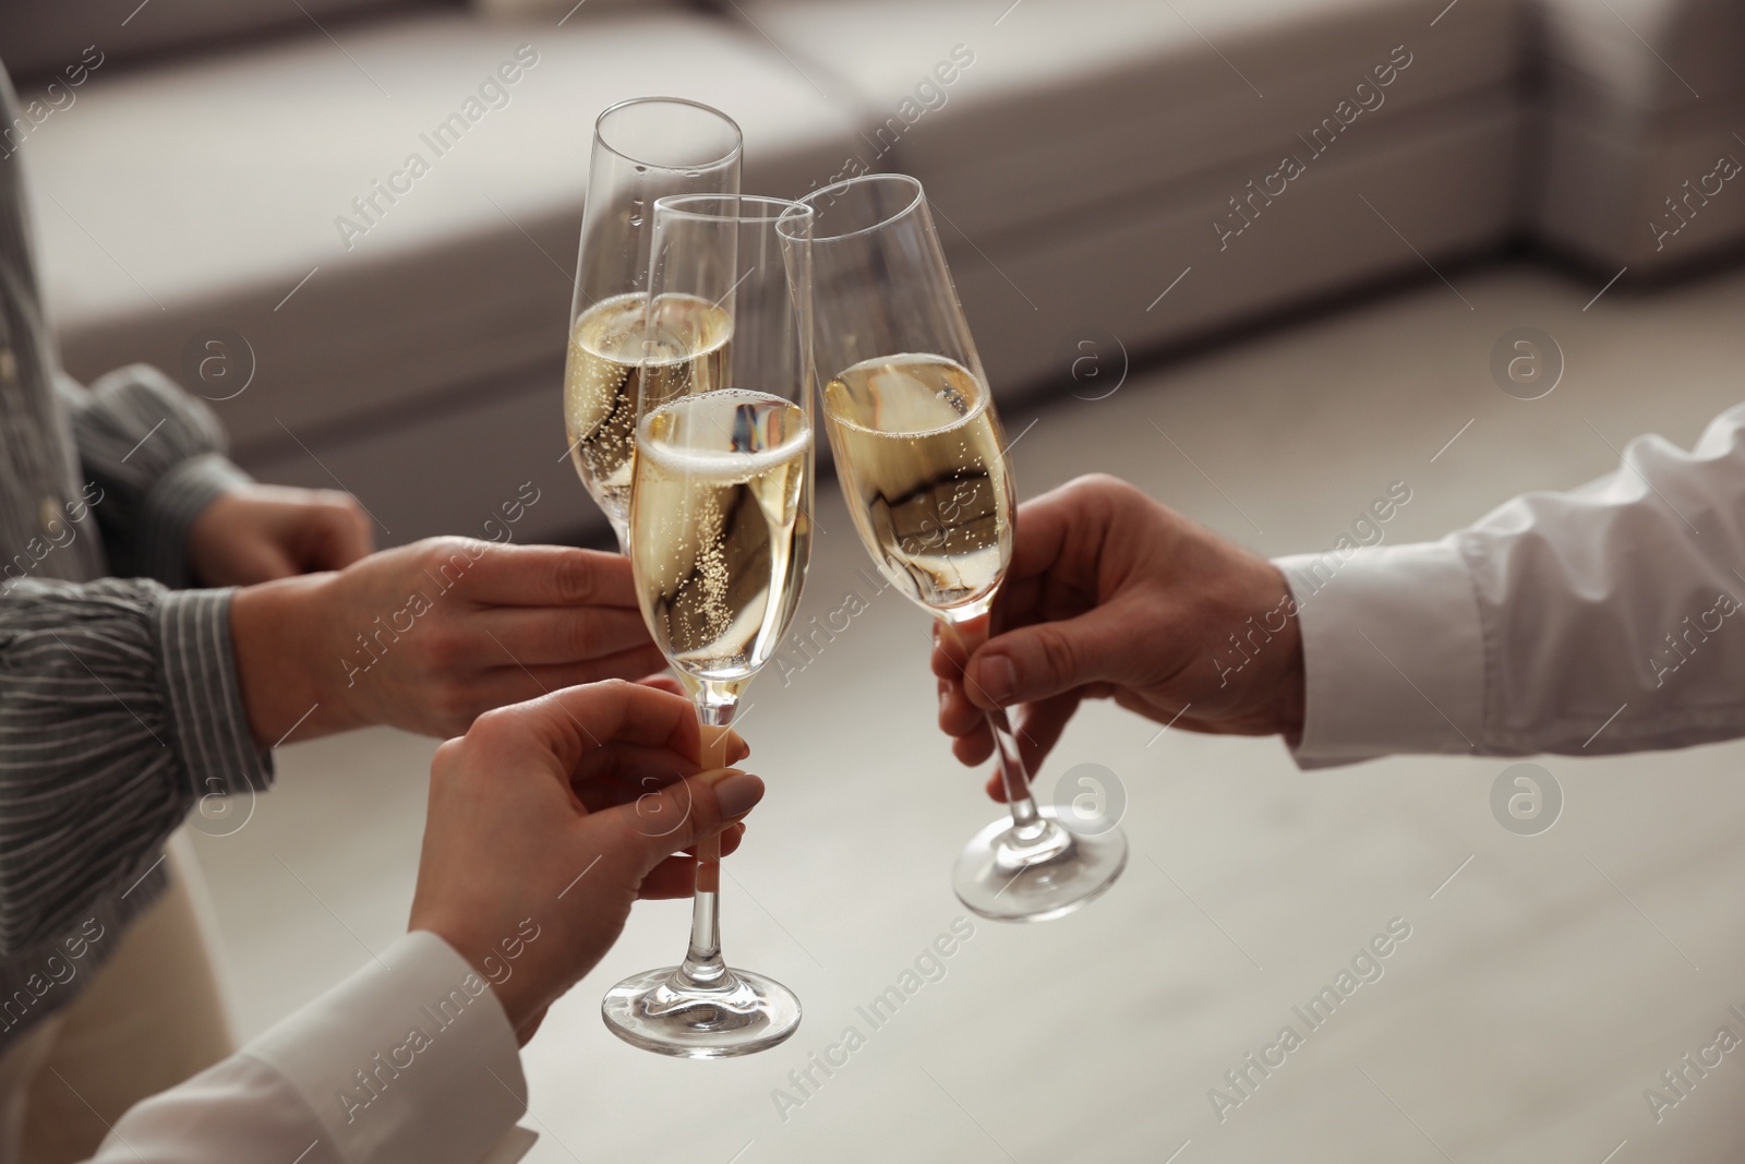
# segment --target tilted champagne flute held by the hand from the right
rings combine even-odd
[[[927,195],[914,178],[866,175],[803,202],[813,218],[790,220],[794,246],[810,255],[813,351],[848,511],[879,571],[972,651],[1012,557],[1014,487]],[[1071,913],[1115,881],[1127,839],[1038,810],[1005,712],[988,724],[1012,815],[958,857],[958,899],[998,921]]]

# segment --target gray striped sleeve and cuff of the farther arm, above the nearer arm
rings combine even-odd
[[[250,476],[225,459],[223,426],[202,401],[147,365],[117,368],[91,389],[61,377],[86,475],[103,487],[96,506],[110,569],[124,578],[192,585],[188,529],[218,494]]]

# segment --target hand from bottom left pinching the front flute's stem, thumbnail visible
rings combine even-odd
[[[726,733],[729,763],[745,742]],[[763,780],[701,768],[691,702],[628,682],[569,688],[480,716],[436,749],[408,928],[492,984],[520,1042],[600,962],[639,897],[688,897],[675,855],[738,820]]]

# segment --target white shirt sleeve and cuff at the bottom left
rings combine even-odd
[[[510,1164],[532,1136],[515,1031],[435,934],[380,958],[180,1087],[92,1164]]]

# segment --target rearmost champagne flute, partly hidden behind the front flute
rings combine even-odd
[[[588,202],[564,361],[569,457],[625,551],[635,473],[637,394],[667,365],[640,359],[649,220],[668,194],[738,194],[740,127],[679,98],[635,98],[593,124]]]

